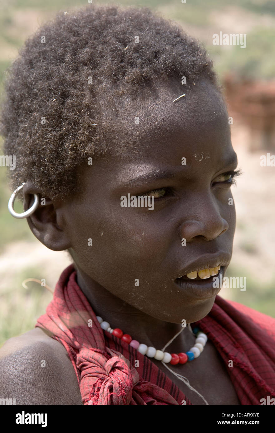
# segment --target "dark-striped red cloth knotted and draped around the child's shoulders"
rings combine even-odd
[[[62,272],[36,326],[67,350],[83,404],[192,404],[149,358],[101,329],[73,265]],[[234,362],[228,372],[241,404],[275,397],[275,319],[216,296],[210,313],[193,326],[206,333],[227,367],[229,359]]]

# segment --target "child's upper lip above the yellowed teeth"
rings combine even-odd
[[[204,254],[198,257],[195,261],[188,263],[182,271],[179,272],[176,279],[183,275],[190,274],[193,271],[202,271],[203,269],[216,268],[217,266],[226,267],[231,260],[231,254],[228,252],[216,252],[215,254]],[[192,281],[192,280],[191,280]]]

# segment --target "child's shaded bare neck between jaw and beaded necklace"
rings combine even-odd
[[[179,323],[164,322],[137,310],[96,283],[76,265],[75,268],[79,287],[93,311],[96,316],[100,316],[104,321],[110,323],[111,328],[120,328],[124,334],[131,335],[132,339],[139,341],[139,343],[160,350],[182,329]],[[167,352],[184,352],[189,350],[193,343],[194,336],[189,330],[184,329],[165,350]]]

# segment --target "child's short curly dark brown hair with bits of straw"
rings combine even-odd
[[[167,78],[181,85],[182,76],[219,88],[206,50],[150,9],[59,11],[7,70],[0,134],[5,154],[16,155],[10,186],[31,180],[47,197],[75,193],[77,168],[119,146],[112,118],[126,110],[121,101],[146,100],[144,89]]]

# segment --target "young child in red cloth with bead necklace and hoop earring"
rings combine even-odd
[[[232,255],[239,171],[195,40],[147,8],[60,12],[10,67],[1,133],[16,155],[10,213],[73,260],[35,329],[0,349],[1,395],[102,405],[275,397],[275,320],[214,284]]]

